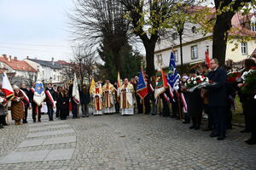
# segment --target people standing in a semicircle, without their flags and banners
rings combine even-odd
[[[255,59],[245,59],[244,68],[241,75],[255,68]],[[47,84],[47,88],[55,101],[46,96],[45,106],[49,121],[55,117],[61,120],[67,119],[69,111],[72,111],[73,118],[79,117],[79,106],[81,106],[82,116],[90,116],[89,106],[93,108],[92,115],[103,115],[120,113],[121,115],[133,115],[144,113],[147,115],[156,115],[183,119],[183,123],[192,122],[190,129],[201,129],[201,120],[203,114],[207,114],[207,129],[211,131],[210,137],[218,137],[218,140],[226,138],[226,130],[232,128],[232,110],[236,95],[239,96],[243,114],[245,116],[246,127],[241,133],[252,133],[251,139],[247,144],[256,144],[256,114],[253,111],[253,105],[256,104],[255,89],[252,94],[243,94],[241,88],[245,83],[241,80],[236,82],[227,81],[226,68],[218,66],[218,59],[211,59],[210,68],[207,65],[201,65],[200,68],[191,69],[189,75],[183,74],[179,80],[178,88],[173,90],[166,88],[166,91],[155,99],[154,90],[156,88],[156,77],[145,76],[148,94],[141,99],[137,92],[138,77],[131,78],[129,81],[124,79],[123,83],[110,83],[106,80],[102,85],[95,82],[93,87],[83,84],[79,89],[79,104],[73,99],[73,84],[68,88],[52,86]],[[209,82],[202,88],[190,90],[186,87],[186,82],[192,77],[201,75],[207,77]],[[32,84],[32,88],[26,88],[26,84],[21,84],[20,88],[14,85],[15,98],[11,100],[11,116],[15,120],[16,125],[27,123],[27,111],[32,109],[33,122],[40,122],[42,106],[38,106],[33,101],[34,88],[36,83]],[[170,88],[170,87],[169,87]],[[0,97],[4,98],[4,94],[0,87]],[[161,101],[161,102],[160,102]],[[162,106],[161,106],[162,105]],[[43,105],[44,107],[44,105]],[[182,111],[182,108],[185,108]],[[171,111],[172,109],[172,111]],[[0,127],[7,125],[5,116],[7,115],[7,102],[0,105]],[[22,121],[22,122],[21,122]]]

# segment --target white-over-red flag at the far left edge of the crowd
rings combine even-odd
[[[5,72],[3,72],[3,77],[2,77],[2,90],[3,90],[3,93],[5,94],[5,97],[8,100],[11,100],[15,97],[14,89],[12,88],[9,82],[9,78],[7,77]]]

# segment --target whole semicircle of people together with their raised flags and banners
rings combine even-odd
[[[255,94],[255,59],[245,59],[244,68],[240,71],[220,68],[217,59],[209,59],[206,53],[206,65],[199,69],[191,69],[189,75],[178,74],[173,52],[170,56],[168,73],[158,68],[155,77],[148,77],[143,68],[139,76],[127,78],[122,82],[118,72],[118,80],[114,84],[106,80],[105,84],[95,82],[92,78],[89,86],[79,83],[74,74],[73,84],[67,88],[52,87],[51,83],[34,82],[28,90],[25,84],[19,88],[9,83],[3,73],[0,90],[0,127],[8,124],[7,103],[11,102],[11,116],[16,125],[21,120],[27,123],[27,111],[32,109],[33,122],[41,121],[41,113],[47,111],[49,121],[56,118],[67,119],[69,111],[73,118],[79,117],[79,106],[82,116],[90,115],[89,105],[92,105],[92,115],[119,113],[134,115],[137,113],[160,116],[171,116],[183,119],[183,123],[192,122],[190,129],[201,128],[201,119],[207,114],[207,129],[212,131],[210,137],[218,140],[226,138],[226,130],[232,128],[232,106],[236,108],[235,98],[239,95],[245,115],[246,128],[242,133],[252,133],[247,144],[256,144],[256,119],[253,105],[256,103]],[[172,107],[170,107],[172,105]],[[137,110],[135,110],[137,108]],[[159,109],[159,111],[157,111]],[[172,109],[172,111],[170,111]],[[172,113],[172,114],[171,114]]]

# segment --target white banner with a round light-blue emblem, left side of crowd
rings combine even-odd
[[[44,92],[44,85],[43,82],[37,81],[36,87],[34,88],[35,93],[33,97],[33,101],[38,105],[42,105],[44,102],[44,99],[46,98],[45,92]]]

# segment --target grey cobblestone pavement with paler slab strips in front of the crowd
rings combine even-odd
[[[43,117],[46,123],[10,125],[0,130],[1,170],[256,169],[256,146],[244,143],[249,134],[239,133],[239,127],[218,141],[208,137],[208,132],[190,130],[190,125],[169,117],[115,114],[54,122]],[[38,136],[32,135],[35,133]],[[76,140],[66,141],[69,137]],[[27,141],[42,143],[30,145]],[[61,155],[56,152],[49,156],[50,150],[61,150]],[[37,153],[43,151],[48,152],[36,161]],[[15,160],[9,156],[30,152],[34,154],[27,157],[31,162],[8,163]]]

